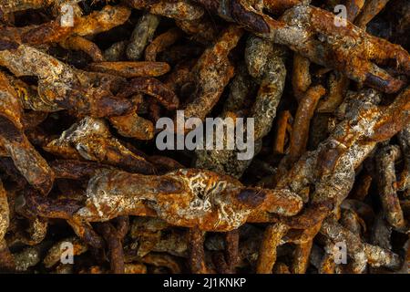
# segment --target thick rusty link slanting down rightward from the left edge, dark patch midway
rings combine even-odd
[[[0,72],[0,144],[27,182],[47,194],[54,181],[54,173],[46,160],[27,140],[24,133],[22,109],[15,90]]]

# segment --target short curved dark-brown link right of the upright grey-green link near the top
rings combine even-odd
[[[178,28],[171,28],[165,33],[157,36],[145,49],[145,59],[147,61],[155,62],[157,55],[177,42],[181,36],[182,33]]]

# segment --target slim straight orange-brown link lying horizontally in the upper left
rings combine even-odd
[[[109,73],[124,78],[139,76],[158,77],[169,72],[169,65],[163,62],[98,62],[88,65],[91,71]]]

